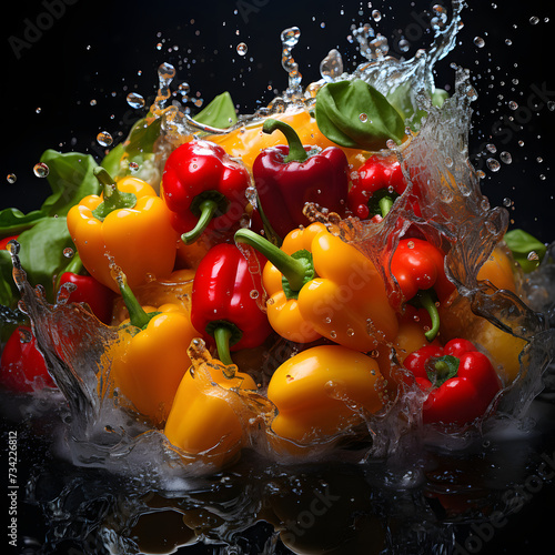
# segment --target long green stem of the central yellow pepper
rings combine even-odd
[[[272,244],[268,239],[244,229],[235,233],[235,242],[248,244],[262,253],[283,274],[294,293],[301,291],[302,286],[314,275],[312,256],[307,251],[297,251],[299,253],[306,252],[307,256],[293,258]]]

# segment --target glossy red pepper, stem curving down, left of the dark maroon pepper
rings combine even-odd
[[[246,168],[231,160],[220,145],[194,140],[168,158],[162,198],[175,231],[184,243],[193,243],[206,229],[226,231],[239,222],[250,184]]]

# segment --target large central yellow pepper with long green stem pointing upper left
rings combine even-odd
[[[367,352],[397,334],[397,319],[374,264],[355,246],[313,223],[278,249],[250,230],[235,241],[264,254],[262,281],[270,324],[297,343],[319,337]]]

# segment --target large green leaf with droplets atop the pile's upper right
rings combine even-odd
[[[350,149],[380,150],[389,139],[400,144],[405,134],[397,110],[361,79],[322,87],[316,94],[315,115],[327,139]]]

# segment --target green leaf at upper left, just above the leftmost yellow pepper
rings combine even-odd
[[[44,215],[67,215],[70,208],[89,194],[100,194],[100,184],[94,178],[97,162],[90,154],[47,150],[40,161],[48,165],[48,182],[52,194],[43,202]]]

